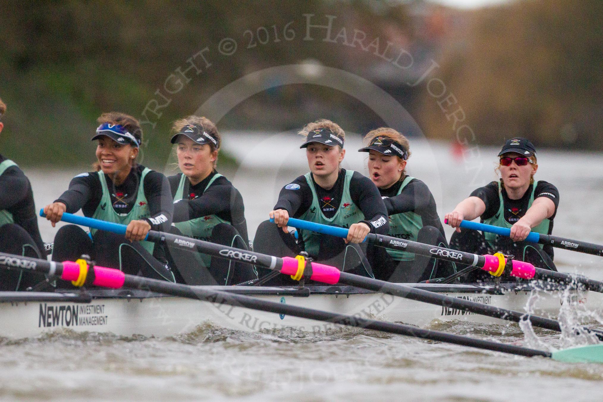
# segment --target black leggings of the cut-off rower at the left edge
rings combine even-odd
[[[17,224],[5,224],[0,227],[0,251],[34,258],[42,258],[43,255],[30,234]],[[43,274],[19,269],[0,269],[0,291],[25,291],[43,280]]]

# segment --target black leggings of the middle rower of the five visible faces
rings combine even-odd
[[[344,239],[324,235],[320,237],[318,256],[312,256],[316,262],[336,266],[342,271],[352,274],[374,277],[373,269],[367,259],[367,244],[346,244]],[[253,240],[253,251],[276,257],[295,257],[303,251],[300,244],[295,242],[291,234],[283,232],[276,224],[270,221],[262,222],[257,227],[256,237]],[[266,268],[257,268],[260,277],[271,271]],[[308,282],[308,281],[306,281]],[[268,286],[295,286],[297,281],[286,275],[279,275],[267,282]]]

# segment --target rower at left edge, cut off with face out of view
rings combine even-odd
[[[0,133],[6,108],[0,99]],[[0,251],[46,257],[30,181],[19,166],[4,155],[0,155]],[[0,269],[0,291],[23,291],[44,279],[44,275],[33,272]]]

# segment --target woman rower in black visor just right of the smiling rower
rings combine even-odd
[[[175,228],[185,236],[247,250],[243,198],[216,172],[222,140],[215,124],[204,117],[188,116],[174,122],[172,132],[171,142],[177,144],[178,168],[182,171],[168,177]],[[169,251],[187,284],[237,284],[257,278],[253,265],[176,248]]]

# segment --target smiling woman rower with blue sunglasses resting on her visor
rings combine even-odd
[[[54,239],[54,261],[75,261],[87,254],[98,265],[127,274],[175,281],[165,252],[142,241],[149,230],[169,231],[173,203],[167,178],[136,163],[142,142],[139,122],[124,113],[104,113],[92,140],[96,171],[77,175],[54,203],[44,207],[52,226],[64,212],[82,210],[84,216],[127,225],[125,236],[90,230],[89,237],[76,225],[61,227]]]

